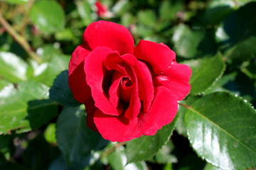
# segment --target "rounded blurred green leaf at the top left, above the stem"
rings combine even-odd
[[[56,1],[36,1],[31,7],[29,17],[43,33],[55,33],[64,28],[64,11]]]

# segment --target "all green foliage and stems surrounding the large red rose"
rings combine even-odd
[[[94,0],[0,1],[0,169],[255,168],[256,2],[102,4],[107,18]],[[100,19],[164,42],[193,69],[191,94],[154,136],[103,140],[70,93],[70,54]]]

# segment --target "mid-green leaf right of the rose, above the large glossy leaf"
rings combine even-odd
[[[225,63],[220,54],[214,57],[188,60],[183,62],[183,64],[187,64],[192,69],[190,84],[191,94],[193,95],[206,91],[206,89],[222,76],[225,70]]]

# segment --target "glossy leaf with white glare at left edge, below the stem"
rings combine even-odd
[[[28,65],[11,52],[0,52],[0,76],[11,82],[26,80]]]

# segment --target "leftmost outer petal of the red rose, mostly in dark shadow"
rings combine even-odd
[[[90,86],[86,83],[84,60],[89,54],[84,45],[79,45],[71,55],[68,67],[68,85],[75,100],[85,103],[92,98]]]

